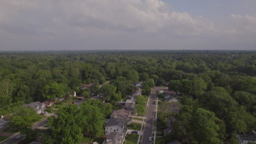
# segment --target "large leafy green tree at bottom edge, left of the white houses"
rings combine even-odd
[[[83,117],[77,105],[67,105],[59,109],[51,129],[42,137],[42,143],[78,144],[82,140]],[[53,118],[52,118],[53,119]]]

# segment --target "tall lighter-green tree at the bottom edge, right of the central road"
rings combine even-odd
[[[215,123],[216,121],[218,121],[218,118],[214,116],[213,112],[202,108],[195,111],[193,114],[193,131],[199,143],[222,143],[218,139],[219,127]]]

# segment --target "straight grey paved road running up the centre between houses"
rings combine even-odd
[[[147,144],[151,143],[148,141],[148,138],[151,136],[152,137],[152,130],[153,130],[153,122],[154,122],[154,110],[155,110],[155,105],[154,99],[156,98],[156,92],[158,89],[161,89],[161,87],[154,87],[151,95],[151,99],[149,101],[149,109],[148,109],[148,115],[146,118],[146,125],[144,128],[144,134],[142,137],[142,144]]]

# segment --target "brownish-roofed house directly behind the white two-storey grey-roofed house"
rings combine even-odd
[[[110,118],[121,119],[123,122],[127,123],[128,125],[130,125],[132,121],[131,111],[127,111],[125,109],[119,109],[119,110],[113,111],[112,114],[110,115]]]

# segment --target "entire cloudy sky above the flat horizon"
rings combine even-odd
[[[256,50],[255,0],[0,0],[0,51]]]

